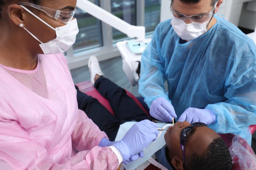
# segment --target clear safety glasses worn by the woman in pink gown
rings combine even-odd
[[[33,8],[36,8],[40,11],[44,11],[47,15],[49,15],[50,17],[64,23],[67,24],[69,21],[71,21],[74,17],[74,14],[76,12],[76,9],[74,9],[73,11],[60,11],[60,10],[54,10],[51,8],[47,8],[44,6],[40,6],[40,5],[36,5],[36,4],[31,4],[31,3],[27,3],[27,2],[20,2],[17,3],[18,5],[27,5],[27,6],[31,6]]]

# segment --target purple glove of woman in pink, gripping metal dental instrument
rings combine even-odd
[[[123,139],[113,144],[122,154],[124,163],[130,163],[135,158],[143,157],[143,149],[156,140],[158,131],[156,123],[143,120],[134,124]],[[135,155],[135,157],[133,157]]]

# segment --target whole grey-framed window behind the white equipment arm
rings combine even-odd
[[[145,26],[147,37],[151,36],[152,31],[154,31],[160,22],[161,0],[89,1],[106,11],[112,12],[112,14],[131,25]],[[66,53],[70,69],[86,65],[89,56],[92,55],[96,55],[99,60],[106,60],[119,55],[114,43],[126,39],[127,36],[96,19],[86,11],[78,7],[76,10],[75,17],[77,19],[79,33],[73,48],[70,48]]]

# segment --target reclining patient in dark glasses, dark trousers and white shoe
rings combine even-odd
[[[106,132],[110,141],[114,141],[119,126],[124,122],[151,120],[151,117],[146,115],[134,100],[127,96],[124,89],[102,77],[103,74],[96,57],[91,57],[88,65],[92,84],[109,101],[114,115],[97,99],[80,92],[76,87],[78,108],[84,110],[87,116],[102,131]],[[188,122],[176,122],[165,133],[164,139],[166,145],[157,151],[155,156],[158,162],[167,169],[232,169],[228,146],[216,132],[204,123],[191,125]]]

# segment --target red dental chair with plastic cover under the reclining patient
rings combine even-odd
[[[96,98],[99,100],[99,102],[108,109],[108,111],[114,115],[113,110],[111,109],[108,100],[103,98],[100,93],[94,88],[92,83],[90,81],[84,81],[77,83],[76,86],[79,88],[79,90],[87,95],[92,96],[93,98]],[[138,100],[136,97],[134,97],[130,92],[126,90],[126,93],[128,96],[130,96],[137,104],[140,106],[140,108],[147,114],[148,108],[144,107],[140,100]],[[250,126],[251,133],[253,134],[256,131],[256,125]],[[233,166],[232,170],[242,170],[242,169],[253,169],[256,170],[256,156],[252,150],[252,147],[243,139],[240,137],[237,137],[233,134],[219,134],[220,137],[223,138],[223,140],[228,145],[229,150],[231,151],[231,156],[233,160]],[[230,148],[232,147],[232,148]],[[154,165],[150,164],[146,170],[154,170],[157,169]]]

